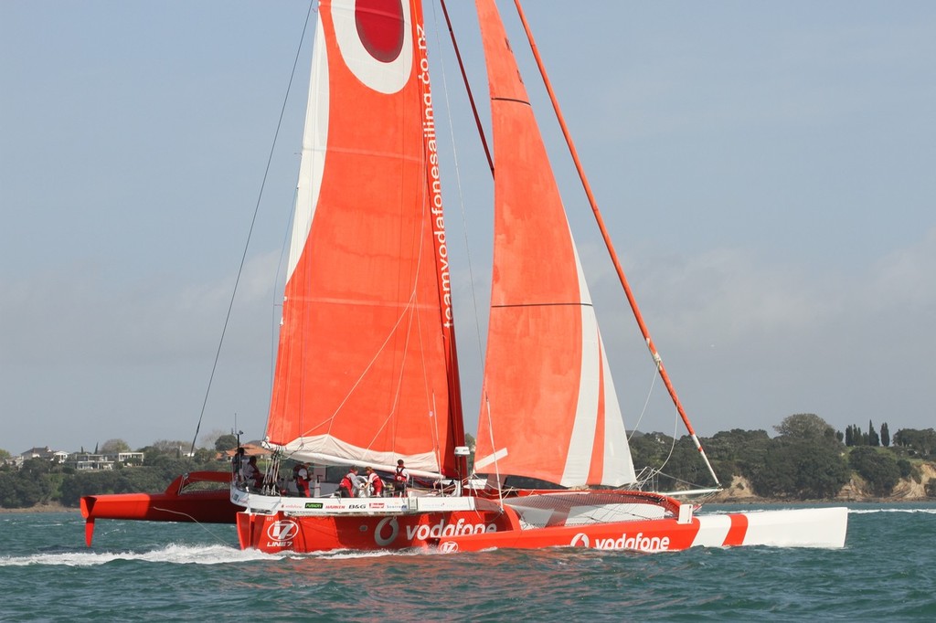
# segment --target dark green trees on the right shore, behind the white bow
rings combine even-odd
[[[873,495],[886,497],[901,479],[921,482],[919,459],[936,459],[932,428],[899,430],[892,447],[883,446],[889,434],[861,435],[857,427],[842,434],[813,413],[790,415],[774,428],[779,433],[774,438],[765,430],[736,428],[700,440],[715,472],[724,479],[724,488],[739,475],[763,498],[827,500],[857,474]],[[886,433],[886,425],[882,429]],[[679,440],[656,432],[635,436],[631,452],[636,466],[661,470],[656,483],[661,490],[714,485],[688,436]],[[926,491],[936,498],[936,483],[929,482]]]

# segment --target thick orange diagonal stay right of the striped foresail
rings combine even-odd
[[[656,346],[653,345],[653,340],[651,340],[650,337],[650,330],[644,323],[643,315],[640,313],[640,308],[637,307],[634,293],[631,291],[631,286],[627,282],[627,277],[624,276],[624,270],[621,267],[621,262],[618,260],[618,254],[614,251],[614,245],[611,244],[611,237],[607,233],[605,219],[601,216],[601,211],[598,210],[598,202],[595,200],[594,194],[592,193],[592,185],[589,183],[588,178],[585,175],[585,169],[582,167],[581,160],[578,159],[578,150],[576,149],[575,143],[572,140],[572,135],[569,132],[568,125],[565,124],[563,112],[559,108],[559,100],[556,98],[556,94],[552,90],[552,83],[549,81],[549,78],[546,74],[546,66],[543,65],[543,59],[539,55],[539,49],[536,47],[536,43],[533,38],[533,32],[530,30],[530,24],[526,21],[526,16],[523,14],[523,9],[520,7],[519,0],[514,0],[514,6],[517,7],[517,13],[519,15],[520,22],[523,22],[523,30],[526,32],[527,39],[530,42],[530,49],[533,51],[533,55],[536,60],[536,66],[539,68],[540,76],[543,78],[543,84],[546,87],[546,90],[549,94],[549,99],[552,102],[552,109],[556,113],[556,119],[563,130],[563,137],[565,138],[565,143],[569,148],[569,154],[572,156],[573,162],[575,162],[576,170],[578,171],[578,179],[582,182],[582,188],[584,188],[585,195],[588,197],[589,204],[592,206],[592,213],[594,214],[595,222],[598,224],[598,229],[601,231],[602,238],[605,239],[607,253],[611,257],[611,262],[614,264],[615,270],[618,272],[618,279],[621,281],[621,285],[624,289],[624,295],[627,297],[627,302],[630,303],[631,311],[634,312],[634,318],[636,319],[637,326],[640,327],[640,333],[647,342],[647,348],[650,349],[653,361],[656,364],[656,369],[660,374],[660,378],[663,379],[663,383],[666,385],[667,391],[669,392],[669,397],[672,398],[673,405],[676,407],[676,411],[680,413],[682,424],[686,427],[686,430],[689,431],[689,434],[695,443],[695,449],[698,450],[699,455],[702,456],[702,460],[705,461],[705,465],[707,468],[709,468],[709,474],[711,474],[711,477],[715,480],[715,484],[721,486],[721,483],[718,480],[718,476],[715,475],[715,470],[712,468],[711,463],[709,462],[709,456],[705,454],[705,450],[702,448],[701,442],[699,442],[698,437],[695,435],[693,425],[689,421],[689,416],[682,408],[680,398],[676,395],[676,388],[669,380],[669,374],[666,372],[665,366],[663,365],[663,359],[657,352]]]

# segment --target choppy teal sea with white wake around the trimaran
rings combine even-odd
[[[271,556],[232,526],[106,520],[87,548],[77,512],[0,514],[0,620],[936,620],[936,503],[848,506],[843,549],[662,554]]]

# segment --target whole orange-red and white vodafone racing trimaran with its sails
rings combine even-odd
[[[494,259],[474,473],[421,2],[321,0],[265,480],[197,472],[163,494],[88,496],[89,544],[95,519],[113,518],[232,522],[241,547],[265,552],[843,545],[845,508],[705,514],[695,501],[637,485],[533,109],[494,0],[475,5],[490,88]],[[654,365],[717,490],[578,168]],[[321,488],[284,495],[275,482],[286,460],[392,474],[400,459],[428,485],[401,497],[341,498]],[[518,476],[552,486],[507,486]],[[199,480],[230,488],[186,492]]]

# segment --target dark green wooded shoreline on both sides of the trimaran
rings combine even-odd
[[[790,415],[774,428],[778,434],[773,438],[766,430],[736,428],[700,440],[724,488],[738,475],[763,498],[827,500],[858,475],[873,495],[886,497],[901,479],[921,482],[921,459],[936,460],[933,428],[901,429],[894,434],[893,445],[888,445],[891,440],[886,424],[880,434],[872,426],[869,431],[874,435],[858,427],[847,427],[841,433],[812,413]],[[873,443],[875,438],[877,443]],[[129,449],[120,440],[106,445]],[[213,450],[201,448],[195,456],[184,456],[183,445],[155,442],[141,448],[142,466],[118,463],[114,470],[78,471],[42,458],[25,461],[19,470],[5,465],[0,467],[0,507],[30,508],[43,503],[77,507],[85,495],[158,493],[182,473],[227,470],[227,461],[217,459],[218,451],[236,447],[237,438],[219,437]],[[714,485],[688,436],[673,439],[659,432],[636,434],[631,438],[631,453],[638,469],[649,466],[659,470],[652,483],[657,490]],[[929,481],[926,492],[936,498],[936,480]]]

